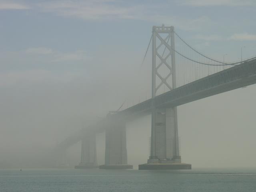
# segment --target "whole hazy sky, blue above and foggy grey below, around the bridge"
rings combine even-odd
[[[219,60],[240,60],[242,46],[243,58],[256,55],[255,8],[254,0],[0,0],[0,163],[26,161],[22,154],[56,145],[124,101],[148,98],[150,55],[140,64],[153,25],[173,25]],[[252,85],[180,106],[182,160],[255,166],[255,96]],[[134,164],[146,162],[150,136],[148,118],[136,122],[127,140]],[[133,138],[138,129],[146,136]]]

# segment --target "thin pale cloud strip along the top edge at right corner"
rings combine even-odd
[[[179,0],[185,6],[256,6],[255,0]]]

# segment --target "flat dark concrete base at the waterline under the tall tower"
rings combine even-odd
[[[182,170],[191,169],[186,163],[146,163],[139,165],[139,170]]]

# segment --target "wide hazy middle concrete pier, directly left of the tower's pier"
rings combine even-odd
[[[132,169],[127,164],[126,125],[115,120],[106,128],[105,164],[100,169]]]

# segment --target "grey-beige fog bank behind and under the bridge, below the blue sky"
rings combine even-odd
[[[140,59],[105,60],[89,77],[22,77],[1,86],[1,168],[51,166],[48,156],[58,143],[136,98],[142,86],[150,90],[150,69],[138,75]],[[252,85],[179,106],[182,161],[194,167],[254,166],[255,96]],[[126,125],[128,162],[135,167],[149,155],[150,118]],[[98,164],[104,164],[104,140],[104,133],[97,136]],[[80,150],[80,142],[67,150],[69,166],[80,162]]]

